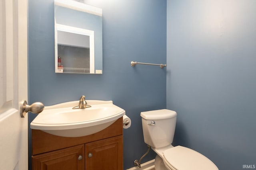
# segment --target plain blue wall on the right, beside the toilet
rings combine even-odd
[[[220,170],[256,164],[256,1],[167,0],[167,108],[174,145]]]

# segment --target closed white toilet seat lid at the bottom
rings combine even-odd
[[[165,150],[163,161],[171,170],[218,170],[204,155],[182,146]]]

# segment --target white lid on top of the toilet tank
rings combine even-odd
[[[152,110],[152,111],[143,111],[140,113],[140,116],[146,120],[160,120],[176,117],[176,111],[168,109]]]

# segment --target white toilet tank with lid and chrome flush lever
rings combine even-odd
[[[146,144],[154,148],[172,144],[177,117],[175,111],[168,109],[144,111],[140,116]]]

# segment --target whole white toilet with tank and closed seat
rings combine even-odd
[[[155,170],[218,170],[210,159],[199,152],[171,145],[176,127],[175,111],[144,111],[140,116],[144,141],[157,153]]]

